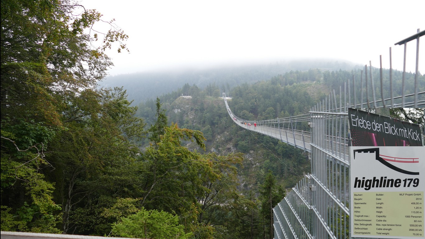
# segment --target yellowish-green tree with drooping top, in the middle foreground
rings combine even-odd
[[[178,128],[176,124],[164,128],[160,142],[151,145],[144,154],[145,172],[142,204],[154,208],[179,212],[192,202],[186,198],[193,196],[197,170],[206,165],[198,153],[191,152],[181,145],[181,140],[195,142],[205,148],[200,131]]]

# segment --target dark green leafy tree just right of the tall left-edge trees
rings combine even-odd
[[[102,201],[102,195],[128,196],[126,192],[133,188],[135,175],[122,172],[137,168],[136,142],[144,137],[144,122],[134,117],[136,108],[130,107],[122,88],[87,91],[84,97],[92,102],[80,105],[77,98],[74,105],[65,108],[68,130],[52,143],[55,154],[51,159],[60,169],[60,188],[66,189],[62,194],[62,230],[78,227],[84,233],[103,234],[99,228],[106,228],[111,221],[92,217],[102,213],[100,202],[102,207],[110,206]]]

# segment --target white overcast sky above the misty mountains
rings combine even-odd
[[[129,35],[109,51],[111,75],[292,58],[338,58],[402,70],[403,46],[425,30],[425,0],[81,0]],[[425,37],[419,71],[425,73]],[[414,71],[416,40],[408,43]],[[410,50],[410,51],[409,51]]]

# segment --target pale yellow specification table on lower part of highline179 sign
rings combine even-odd
[[[424,192],[357,192],[355,235],[424,236]]]

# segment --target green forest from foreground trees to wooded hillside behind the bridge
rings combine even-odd
[[[68,0],[5,0],[0,11],[2,231],[273,238],[271,208],[310,171],[309,155],[233,124],[221,93],[239,117],[273,119],[308,113],[361,74],[288,67],[232,81],[217,70],[133,101],[139,86],[99,83],[112,65],[105,51],[127,51],[128,38],[99,12]],[[97,24],[111,28],[94,33]]]

